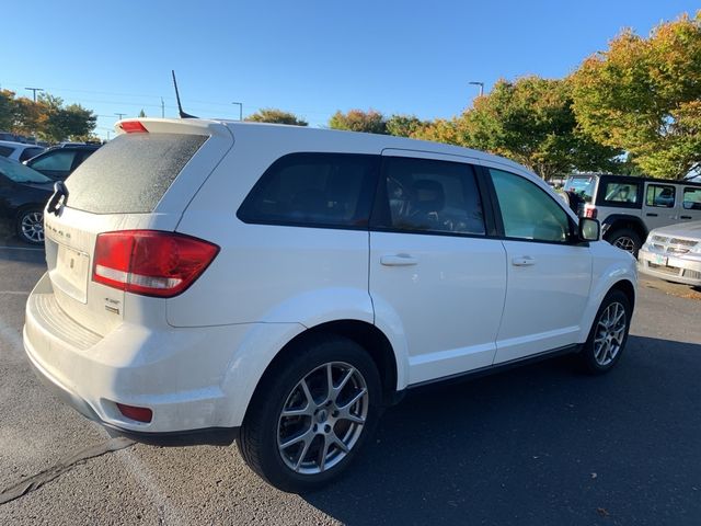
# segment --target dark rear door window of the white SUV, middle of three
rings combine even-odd
[[[471,165],[388,157],[382,167],[386,217],[380,214],[375,226],[418,232],[485,233]]]

